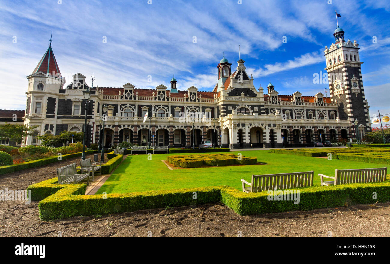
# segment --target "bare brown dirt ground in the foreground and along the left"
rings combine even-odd
[[[91,155],[92,156],[92,155]],[[89,156],[87,156],[89,157]],[[0,176],[0,190],[23,190],[79,158]],[[38,202],[0,201],[0,236],[390,236],[390,202],[239,216],[222,203],[44,222]]]

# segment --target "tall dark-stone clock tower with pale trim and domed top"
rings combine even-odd
[[[362,71],[363,62],[359,57],[359,44],[354,40],[344,40],[344,31],[337,25],[335,43],[325,47],[326,68],[329,92],[332,102],[339,104],[339,118],[358,120],[360,139],[371,131],[369,106],[364,96]],[[356,133],[356,127],[352,130]],[[356,137],[356,134],[355,134]]]

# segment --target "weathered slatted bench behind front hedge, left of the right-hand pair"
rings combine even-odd
[[[264,190],[284,190],[313,186],[314,171],[253,175],[250,183],[241,179],[243,192],[261,192]],[[249,185],[246,187],[245,185]]]

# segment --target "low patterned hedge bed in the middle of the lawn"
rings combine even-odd
[[[202,165],[226,166],[233,164],[251,165],[257,163],[255,157],[242,157],[238,160],[235,154],[199,154],[199,155],[174,155],[167,156],[167,162],[175,167],[195,168]]]

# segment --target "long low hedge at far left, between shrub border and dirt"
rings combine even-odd
[[[62,160],[66,160],[68,158],[74,158],[74,157],[81,156],[81,153],[82,152],[65,154],[65,155],[62,155],[61,157],[62,157]],[[85,151],[85,154],[91,154],[91,153],[93,153],[93,150]],[[14,172],[14,171],[21,171],[21,170],[24,170],[24,169],[40,167],[40,166],[43,166],[43,165],[46,165],[46,164],[50,164],[50,163],[53,163],[53,162],[57,162],[57,161],[59,161],[58,160],[58,156],[54,156],[54,157],[48,157],[48,158],[41,158],[39,160],[31,160],[31,161],[18,163],[18,164],[14,164],[14,165],[1,166],[0,167],[0,175],[6,174],[6,173],[10,173],[10,172]]]

